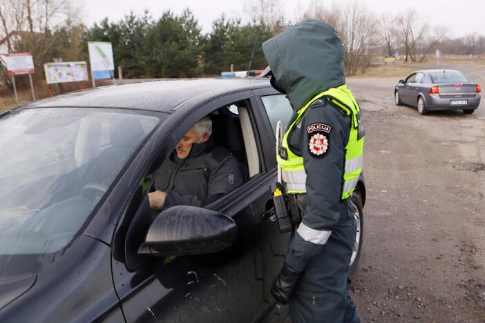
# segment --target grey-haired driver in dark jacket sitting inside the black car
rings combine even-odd
[[[206,116],[178,141],[155,175],[155,191],[148,193],[152,210],[206,206],[242,184],[238,160],[216,146],[211,133],[212,121]]]

